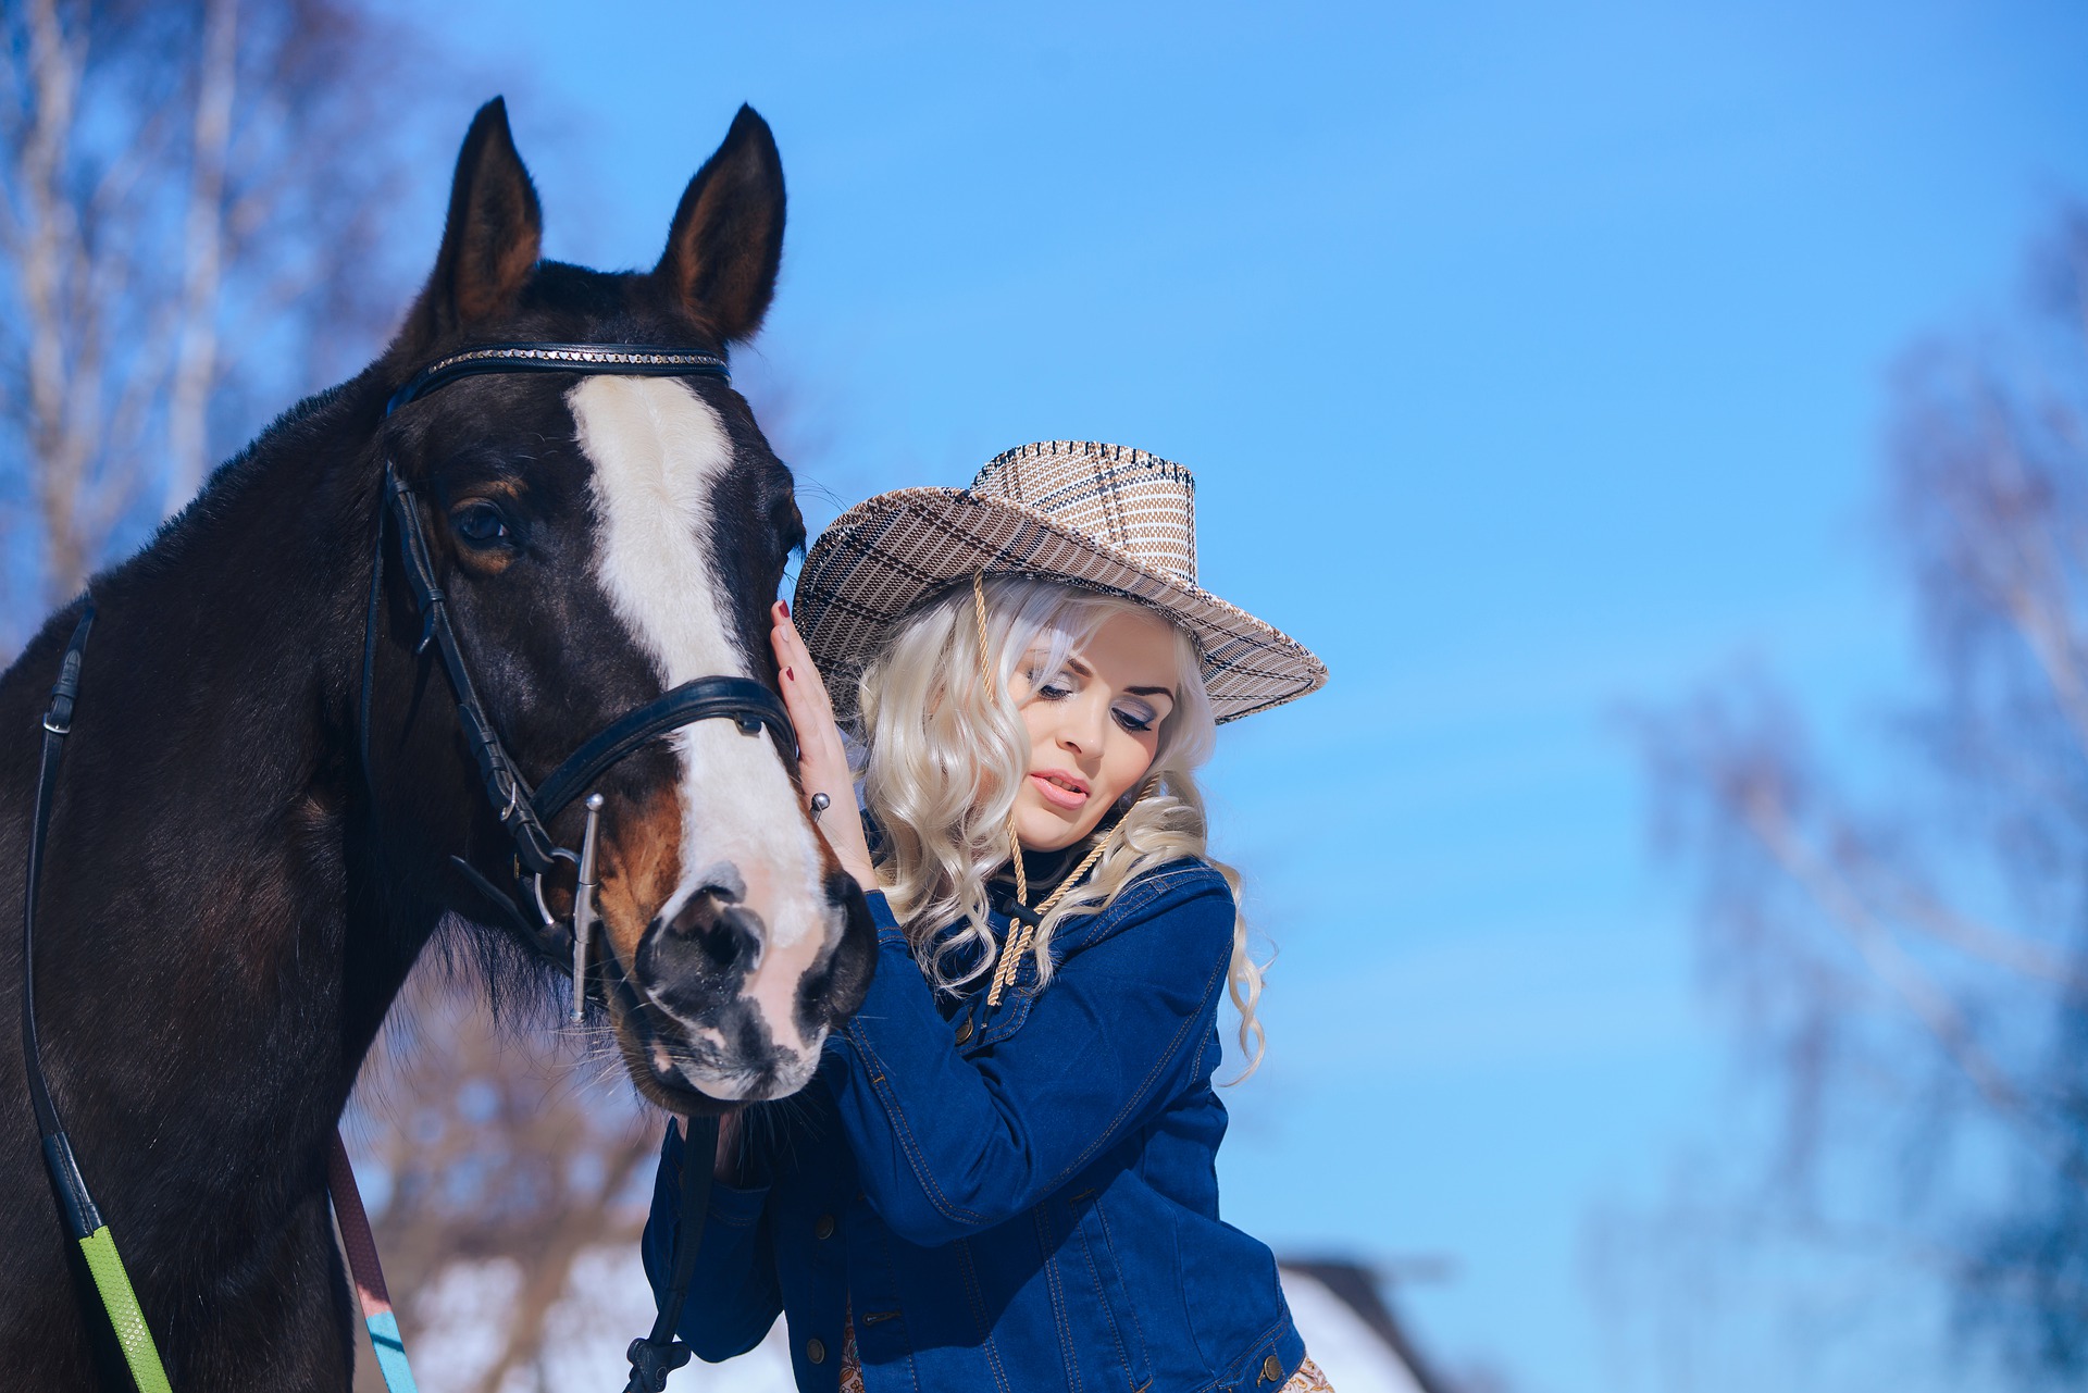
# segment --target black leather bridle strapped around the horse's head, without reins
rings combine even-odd
[[[422,368],[384,403],[384,416],[390,418],[393,411],[459,378],[495,372],[731,380],[722,355],[697,349],[501,343],[466,349]],[[449,620],[447,597],[443,595],[443,587],[436,585],[434,566],[428,560],[428,537],[422,530],[420,499],[399,478],[399,470],[386,457],[384,497],[378,505],[376,553],[370,566],[370,610],[363,616],[363,685],[357,702],[357,746],[361,752],[363,783],[370,789],[372,802],[376,800],[376,781],[370,771],[370,693],[376,677],[378,612],[384,599],[386,530],[399,537],[399,562],[405,570],[407,589],[413,595],[413,608],[420,612],[420,643],[413,652],[424,654],[432,645],[443,660],[449,691],[457,700],[457,725],[464,731],[466,746],[472,750],[472,762],[478,766],[487,802],[514,844],[516,892],[509,894],[497,888],[461,856],[451,856],[449,863],[514,919],[524,942],[539,954],[572,971],[572,1019],[578,1021],[587,994],[589,936],[595,925],[593,892],[601,796],[595,794],[587,800],[587,825],[580,833],[578,852],[557,846],[547,825],[620,760],[685,725],[725,718],[737,725],[743,735],[760,735],[766,729],[787,769],[798,766],[798,733],[781,698],[762,683],[750,677],[697,677],[606,725],[545,775],[543,783],[532,787],[501,743],[499,731],[493,729],[493,718],[487,714],[484,702],[478,700],[478,687],[472,683],[472,670],[464,660],[457,631]],[[543,896],[543,879],[560,860],[572,863],[578,875],[572,913],[566,917],[553,915]]]

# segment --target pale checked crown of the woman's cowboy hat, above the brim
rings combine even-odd
[[[1130,445],[1040,441],[986,462],[977,497],[1004,499],[1196,583],[1196,480]]]

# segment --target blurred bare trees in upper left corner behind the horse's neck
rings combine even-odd
[[[0,6],[0,641],[380,347],[411,71],[355,0]]]

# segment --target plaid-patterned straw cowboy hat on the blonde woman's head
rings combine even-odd
[[[1040,441],[996,455],[969,489],[898,489],[833,520],[798,572],[791,618],[827,672],[848,681],[908,610],[975,574],[1038,576],[1125,595],[1186,629],[1217,721],[1295,702],[1326,664],[1196,585],[1196,480],[1125,445]]]

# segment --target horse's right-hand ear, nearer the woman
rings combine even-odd
[[[752,338],[783,263],[783,161],[775,136],[741,107],[718,152],[689,180],[654,276],[720,343]]]

